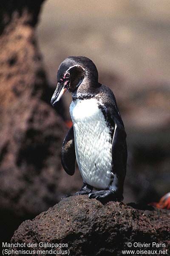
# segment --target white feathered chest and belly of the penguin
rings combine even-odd
[[[76,159],[83,180],[97,189],[107,189],[112,174],[112,138],[96,99],[71,102]]]

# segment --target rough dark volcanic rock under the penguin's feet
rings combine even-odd
[[[40,242],[67,243],[74,256],[119,256],[128,250],[128,242],[153,241],[170,249],[170,211],[149,206],[140,209],[122,202],[103,205],[88,196],[65,198],[32,221],[23,222],[11,239],[12,243],[36,243],[35,249],[41,250]],[[45,250],[50,249],[48,244]]]

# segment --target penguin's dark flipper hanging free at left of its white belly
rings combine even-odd
[[[68,131],[65,139],[62,143],[61,150],[61,163],[65,172],[69,175],[74,175],[75,172],[75,162],[76,162],[76,153],[75,153],[75,145],[74,145],[74,130],[73,126],[71,126]]]

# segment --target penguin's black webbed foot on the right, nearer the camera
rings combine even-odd
[[[105,199],[107,201],[122,200],[118,197],[116,192],[113,190],[100,190],[88,193],[89,198],[96,198],[97,200]]]

